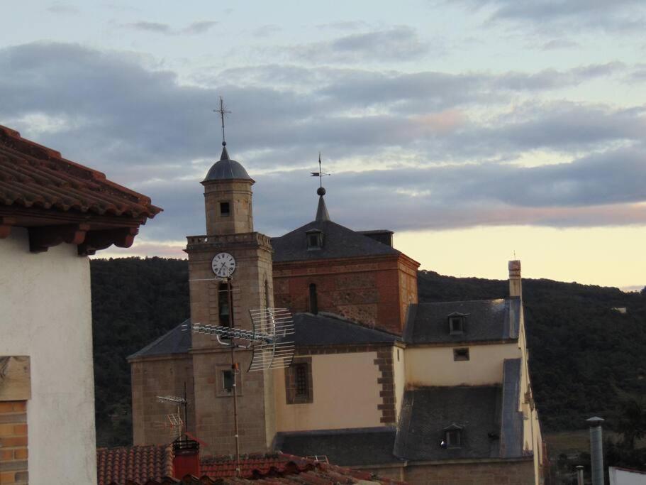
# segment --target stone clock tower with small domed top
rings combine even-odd
[[[253,231],[254,181],[229,158],[225,144],[202,182],[207,234],[187,237],[191,322],[229,325],[232,317],[235,327],[251,329],[249,310],[273,306],[272,246],[268,236]],[[233,305],[223,273],[230,275]],[[194,334],[190,352],[196,436],[207,443],[206,454],[233,454],[230,349],[215,336]],[[236,349],[235,361],[240,452],[266,452],[276,434],[272,372],[247,372],[250,350]]]

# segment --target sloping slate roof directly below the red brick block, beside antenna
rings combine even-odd
[[[363,327],[331,313],[296,313],[294,342],[297,346],[333,344],[391,343],[400,337],[381,330]]]

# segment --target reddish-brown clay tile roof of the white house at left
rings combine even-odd
[[[40,207],[62,212],[155,217],[150,198],[106,179],[106,175],[62,158],[60,153],[0,126],[0,206]],[[143,222],[143,221],[142,221]]]

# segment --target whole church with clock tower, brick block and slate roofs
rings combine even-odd
[[[323,187],[312,222],[269,238],[254,231],[255,182],[226,146],[201,183],[206,234],[186,244],[191,315],[128,357],[135,445],[169,442],[156,396],[186,390],[203,454],[235,453],[237,411],[242,453],[325,456],[412,484],[543,482],[520,261],[508,298],[419,303],[419,263],[389,230],[333,222]],[[236,349],[232,371],[217,336],[186,331],[251,331],[250,310],[274,307],[294,315],[284,369],[248,372],[252,349]]]

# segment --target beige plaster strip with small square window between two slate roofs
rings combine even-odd
[[[454,348],[469,348],[468,361],[454,361]],[[502,383],[504,359],[518,359],[516,342],[455,347],[408,347],[406,383],[408,386],[484,386]]]

